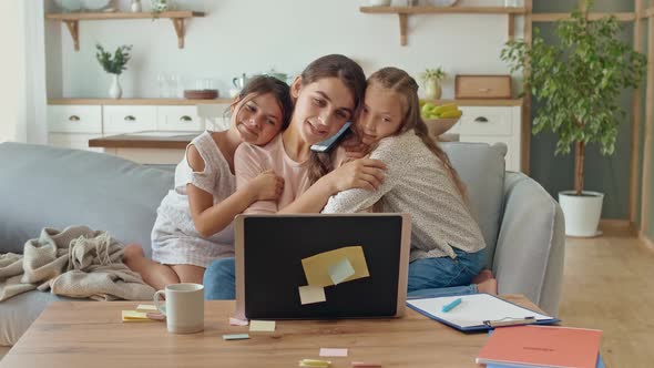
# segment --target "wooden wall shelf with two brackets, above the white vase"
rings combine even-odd
[[[184,20],[188,18],[204,17],[204,12],[178,10],[164,11],[156,16],[151,12],[83,12],[83,13],[48,13],[45,19],[62,21],[73,38],[75,51],[80,51],[80,21],[81,20],[116,20],[116,19],[170,19],[177,33],[177,47],[184,49]]]

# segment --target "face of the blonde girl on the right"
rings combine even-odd
[[[402,125],[402,99],[377,83],[368,84],[357,129],[364,144],[370,145],[394,135]]]

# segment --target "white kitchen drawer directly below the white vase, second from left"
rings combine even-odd
[[[104,135],[156,130],[156,106],[104,106]]]

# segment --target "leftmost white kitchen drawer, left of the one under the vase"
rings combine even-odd
[[[89,105],[49,105],[48,131],[57,133],[102,134],[102,108]]]

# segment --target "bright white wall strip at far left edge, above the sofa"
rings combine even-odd
[[[22,1],[0,1],[0,142],[25,141],[25,49]]]

